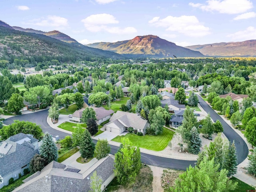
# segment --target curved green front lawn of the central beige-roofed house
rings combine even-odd
[[[173,135],[173,131],[163,128],[163,133],[159,135],[138,136],[128,133],[125,136],[117,136],[116,138],[112,139],[112,141],[121,142],[122,138],[129,138],[134,146],[153,151],[161,151],[166,148]]]

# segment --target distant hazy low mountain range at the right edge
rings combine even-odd
[[[186,48],[200,51],[206,56],[256,56],[256,40],[193,45]]]

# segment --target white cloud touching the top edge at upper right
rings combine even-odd
[[[190,2],[189,5],[204,11],[217,11],[227,14],[244,13],[253,8],[250,0],[208,0],[206,1],[206,4],[194,4]]]

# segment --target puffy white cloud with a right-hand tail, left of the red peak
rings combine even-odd
[[[137,30],[134,27],[110,27],[109,24],[118,24],[119,21],[113,15],[110,14],[95,14],[90,15],[87,18],[81,20],[87,30],[91,32],[107,31],[112,34],[131,34],[136,33]]]

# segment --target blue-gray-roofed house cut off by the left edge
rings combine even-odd
[[[30,160],[38,153],[38,140],[30,134],[19,133],[0,144],[0,188],[23,175]]]

